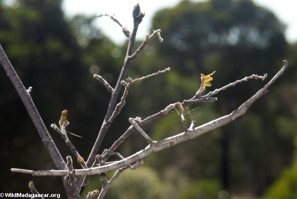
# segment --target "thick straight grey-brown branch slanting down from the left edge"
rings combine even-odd
[[[58,151],[57,147],[55,146],[51,136],[49,135],[49,132],[41,119],[38,110],[31,98],[31,95],[28,90],[24,87],[22,81],[18,77],[17,73],[15,72],[13,66],[9,62],[5,52],[2,49],[2,46],[0,45],[0,64],[4,68],[7,76],[9,77],[11,83],[13,84],[14,88],[16,89],[18,95],[20,96],[22,102],[24,103],[27,112],[29,113],[31,120],[39,133],[41,140],[43,141],[47,151],[49,152],[49,155],[54,162],[57,169],[66,169],[66,163],[63,160],[60,152]]]

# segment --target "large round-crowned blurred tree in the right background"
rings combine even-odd
[[[178,94],[181,98],[189,95],[187,91],[191,86],[188,85],[195,85],[197,82],[195,77],[189,77],[203,71],[216,70],[220,73],[213,83],[214,87],[226,83],[227,79],[251,71],[271,73],[277,69],[277,60],[281,60],[287,52],[284,25],[272,12],[250,0],[210,0],[198,3],[182,1],[176,7],[157,12],[152,27],[160,27],[166,41],[162,45],[155,45],[155,55],[158,55],[155,60],[168,61],[172,68],[179,71],[179,74],[169,74],[171,78],[174,78],[173,75],[179,75],[188,80],[185,84],[178,81],[175,86],[179,89],[173,91],[169,88],[165,97],[163,95],[158,98],[157,92],[150,94],[157,101],[167,97],[170,99]],[[173,80],[169,79],[170,77],[166,82],[155,83],[171,85]],[[205,121],[205,112],[207,116],[213,117],[232,110],[246,99],[246,94],[251,92],[254,86],[253,83],[241,85],[220,95],[215,108],[199,107],[197,113],[195,112],[198,121]],[[285,138],[281,136],[282,131],[276,131],[279,128],[276,127],[275,115],[281,106],[271,107],[271,101],[272,99],[259,101],[247,117],[222,128],[221,132],[201,137],[193,145],[181,146],[186,147],[187,151],[193,151],[190,155],[192,159],[183,165],[184,168],[191,168],[187,170],[189,176],[217,179],[220,175],[218,180],[223,183],[225,189],[250,190],[260,194],[291,160],[291,155],[281,157],[276,154],[291,154],[293,149],[293,143],[289,141],[292,137]],[[267,112],[260,111],[260,107],[265,107]],[[164,128],[167,131],[176,128],[168,124],[171,124],[170,119],[167,120],[167,126],[155,126],[155,134],[166,132]],[[206,143],[210,145],[205,145]],[[168,153],[173,155],[177,152]],[[265,158],[263,154],[273,155]],[[209,157],[212,160],[209,160]],[[205,162],[207,165],[204,165]],[[176,162],[170,165],[173,164],[178,165]]]

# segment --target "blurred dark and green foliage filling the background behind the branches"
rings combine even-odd
[[[127,48],[127,43],[116,46],[102,35],[95,19],[65,18],[61,0],[9,4],[0,0],[0,44],[24,85],[33,87],[31,95],[46,126],[57,123],[61,110],[67,109],[67,130],[91,140],[71,138],[85,159],[110,96],[93,74],[99,73],[114,86]],[[154,15],[152,29],[159,28],[164,42],[153,38],[128,75],[137,78],[168,66],[171,71],[130,88],[122,116],[114,121],[101,149],[127,129],[129,117],[145,118],[195,95],[200,73],[216,70],[206,94],[253,73],[269,73],[271,78],[284,59],[289,67],[241,119],[149,156],[145,166],[123,172],[106,198],[228,199],[233,193],[261,196],[264,192],[265,199],[296,197],[296,164],[288,165],[293,161],[297,129],[297,43],[287,43],[285,25],[251,0],[184,0]],[[215,103],[191,106],[197,125],[230,113],[263,84],[251,80],[219,93]],[[26,193],[27,183],[33,180],[41,193],[63,193],[59,178],[10,173],[12,167],[54,166],[4,72],[0,72],[0,85],[0,150],[6,160],[1,175],[9,179],[1,181],[0,187]],[[187,114],[186,119],[190,125]],[[171,112],[144,130],[157,140],[181,132],[182,124]],[[51,130],[50,134],[63,157],[69,155],[59,135]],[[146,144],[135,133],[119,149],[128,156]],[[85,194],[99,187],[95,176]]]

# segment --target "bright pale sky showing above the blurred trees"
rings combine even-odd
[[[148,32],[150,20],[154,12],[176,5],[180,0],[64,0],[63,9],[68,16],[77,13],[87,15],[108,13],[115,14],[123,25],[132,29],[132,9],[136,3],[140,3],[146,16],[139,27],[138,39],[143,39]],[[194,0],[201,1],[201,0]],[[254,0],[256,4],[272,10],[284,23],[286,23],[286,37],[290,42],[297,41],[297,0]],[[97,19],[99,28],[113,41],[120,44],[125,41],[121,29],[107,17]],[[155,27],[157,28],[157,27]]]

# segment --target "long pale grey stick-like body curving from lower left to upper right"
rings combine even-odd
[[[244,115],[247,112],[247,109],[264,93],[267,92],[269,86],[277,79],[279,76],[284,72],[284,70],[287,68],[288,62],[284,61],[283,67],[278,71],[278,73],[260,90],[258,90],[252,97],[250,97],[247,101],[245,101],[239,108],[234,110],[232,113],[225,115],[223,117],[217,118],[215,120],[212,120],[208,123],[205,123],[199,127],[196,127],[193,131],[190,131],[188,133],[179,133],[177,135],[167,137],[165,139],[156,141],[156,143],[151,146],[148,145],[143,150],[140,150],[136,152],[135,154],[126,157],[123,160],[119,160],[115,163],[100,166],[100,167],[94,167],[94,168],[88,168],[88,169],[77,169],[75,170],[75,175],[95,175],[102,172],[108,172],[112,171],[118,168],[123,167],[123,165],[128,165],[133,162],[139,161],[147,157],[148,155],[165,149],[169,148],[171,146],[174,146],[178,143],[188,141],[189,139],[194,139],[198,137],[199,135],[203,133],[210,132],[214,129],[217,129],[219,127],[222,127],[232,121],[234,121],[236,118]],[[30,173],[32,175],[37,176],[61,176],[67,174],[67,170],[40,170],[40,171],[32,171],[32,170],[23,170],[23,169],[11,169],[13,172],[21,172],[21,173]]]

